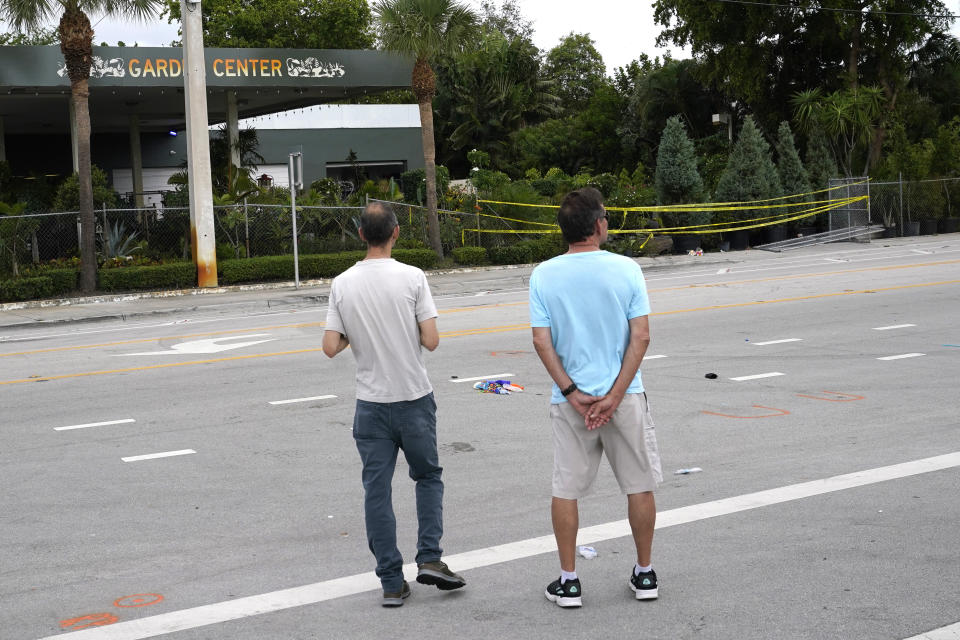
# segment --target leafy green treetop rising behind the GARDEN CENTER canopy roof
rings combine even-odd
[[[180,1],[163,0],[168,22]],[[366,0],[203,0],[207,47],[366,49],[373,45]]]

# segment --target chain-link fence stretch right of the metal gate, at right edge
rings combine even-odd
[[[960,231],[960,178],[871,182],[870,208],[891,234]]]

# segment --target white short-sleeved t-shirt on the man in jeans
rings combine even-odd
[[[436,317],[423,271],[393,258],[363,260],[333,279],[325,328],[350,341],[358,400],[402,402],[433,391],[418,325]]]

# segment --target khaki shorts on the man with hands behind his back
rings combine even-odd
[[[585,496],[597,477],[600,456],[629,495],[653,491],[663,481],[653,417],[645,393],[628,393],[610,422],[588,431],[583,416],[569,402],[551,405],[553,421],[553,495],[575,500]]]

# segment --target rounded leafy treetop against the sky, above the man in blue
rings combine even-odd
[[[590,36],[569,33],[547,52],[544,74],[556,83],[564,113],[577,113],[586,107],[593,93],[605,82],[606,67]]]

